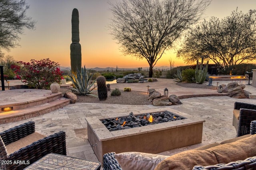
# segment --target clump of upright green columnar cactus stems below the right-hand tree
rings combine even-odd
[[[209,61],[207,61],[207,64],[206,64],[205,68],[203,68],[203,62],[204,62],[204,57],[202,57],[202,62],[200,64],[200,69],[198,70],[198,60],[196,61],[195,79],[196,79],[197,84],[203,84],[204,80],[206,79],[206,76],[207,76]]]

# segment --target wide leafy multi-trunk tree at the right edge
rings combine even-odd
[[[193,63],[202,56],[225,67],[256,59],[256,10],[233,11],[222,20],[211,17],[191,29],[177,57]]]

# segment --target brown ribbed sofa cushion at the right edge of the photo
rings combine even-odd
[[[239,141],[212,147],[206,151],[216,156],[218,164],[227,164],[228,162],[244,160],[246,158],[255,156],[256,149],[253,149],[255,146],[256,135],[252,135],[250,137],[240,139]]]

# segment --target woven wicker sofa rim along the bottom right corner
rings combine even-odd
[[[228,164],[216,164],[211,166],[194,166],[193,170],[253,170],[256,168],[256,156],[230,162]]]

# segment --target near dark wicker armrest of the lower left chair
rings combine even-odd
[[[56,153],[66,155],[66,133],[60,131],[43,139],[40,139],[24,148],[21,148],[9,155],[8,160],[24,160],[32,164],[46,154]],[[6,169],[23,169],[29,164],[6,164]]]

